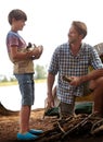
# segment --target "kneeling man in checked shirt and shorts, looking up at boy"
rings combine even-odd
[[[48,73],[48,105],[54,106],[52,87],[57,74],[56,95],[61,117],[74,114],[76,96],[93,92],[93,111],[103,116],[103,64],[96,50],[82,43],[87,35],[83,22],[74,21],[68,32],[68,42],[59,46],[52,56]],[[88,68],[94,70],[88,72]],[[63,76],[70,76],[68,83]]]

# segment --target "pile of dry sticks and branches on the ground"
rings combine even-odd
[[[39,142],[65,142],[74,137],[93,137],[100,133],[103,134],[103,119],[96,114],[82,114],[57,120],[53,129],[39,137]]]

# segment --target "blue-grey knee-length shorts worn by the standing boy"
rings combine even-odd
[[[35,99],[35,85],[34,85],[34,74],[26,73],[26,74],[14,74],[18,81],[20,91],[22,95],[22,106],[31,106],[34,105]]]

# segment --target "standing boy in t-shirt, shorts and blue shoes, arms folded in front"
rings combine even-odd
[[[34,59],[39,59],[42,54],[42,46],[26,50],[26,43],[20,36],[27,21],[27,15],[22,10],[15,9],[9,13],[11,31],[7,35],[7,47],[10,60],[13,62],[14,75],[18,81],[22,94],[22,108],[20,111],[18,140],[35,140],[42,130],[29,129],[29,117],[31,105],[34,105]]]

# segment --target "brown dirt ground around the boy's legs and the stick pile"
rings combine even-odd
[[[44,109],[35,109],[31,111],[30,128],[42,129],[48,131],[53,129],[53,125],[56,122],[56,117],[44,117]],[[11,116],[0,116],[0,142],[3,141],[17,141],[16,133],[18,132],[18,111]],[[39,142],[39,140],[36,142]],[[54,142],[54,140],[53,140]],[[56,141],[55,141],[56,142]],[[60,140],[61,142],[61,140]],[[66,141],[65,141],[66,142]],[[103,137],[79,137],[72,138],[67,142],[103,142]]]

